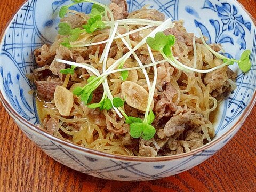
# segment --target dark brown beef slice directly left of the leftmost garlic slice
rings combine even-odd
[[[63,83],[59,78],[48,78],[47,81],[35,81],[37,94],[45,99],[45,101],[51,101],[54,97],[54,91],[56,86],[62,84]]]

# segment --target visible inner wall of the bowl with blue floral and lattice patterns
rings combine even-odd
[[[102,2],[102,1],[101,1]],[[2,37],[0,51],[0,84],[4,100],[32,124],[38,123],[33,94],[33,84],[26,74],[34,69],[33,51],[44,43],[51,44],[57,34],[58,10],[70,1],[30,0],[14,15]],[[103,1],[109,3],[109,1]],[[237,89],[228,95],[219,106],[215,121],[216,138],[227,132],[241,117],[255,95],[256,74],[255,24],[246,11],[235,1],[219,0],[130,0],[129,12],[148,5],[174,20],[183,19],[188,31],[197,36],[199,27],[208,37],[209,43],[221,43],[226,54],[236,59],[246,50],[252,50],[251,70],[244,74],[237,71]],[[81,3],[74,7],[77,11],[90,12],[91,3]],[[42,8],[43,7],[43,8]]]

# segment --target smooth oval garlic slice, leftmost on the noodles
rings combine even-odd
[[[63,86],[57,86],[54,92],[54,102],[60,115],[68,116],[73,107],[73,94]]]

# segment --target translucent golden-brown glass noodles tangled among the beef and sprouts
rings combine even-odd
[[[135,11],[129,14],[129,18],[147,18],[149,14],[148,9],[142,9],[140,11]],[[88,19],[86,15],[82,13],[78,13],[75,11],[70,11],[70,15],[79,14],[84,20]],[[154,14],[150,14],[152,19],[156,19],[157,17]],[[129,25],[129,26],[118,26],[118,32],[120,34],[124,34],[127,30],[138,29],[139,25]],[[142,36],[146,36],[143,33],[149,34],[153,28],[145,29],[141,31],[139,34]],[[177,30],[182,31],[182,25],[177,26]],[[81,45],[81,44],[89,44],[94,42],[100,42],[108,39],[110,29],[103,29],[95,31],[94,33],[88,34],[83,33],[76,42],[71,42],[71,45]],[[50,46],[50,51],[57,50],[59,48],[60,42],[62,42],[64,37],[58,35],[56,41],[53,45]],[[188,38],[190,38],[188,36]],[[141,40],[141,36],[135,39],[128,39],[127,41],[131,43],[132,46],[138,44]],[[71,49],[74,55],[81,55],[83,58],[87,57],[86,62],[90,63],[93,67],[102,70],[102,64],[99,62],[101,57],[102,45],[92,46],[95,49],[95,52],[92,54],[90,52],[86,53],[86,51],[90,50],[90,47],[73,47]],[[194,66],[194,51],[197,52],[196,57],[196,68],[197,69],[209,69],[213,68],[217,65],[221,65],[222,61],[219,61],[214,55],[206,49],[206,47],[200,43],[196,42],[193,49],[193,46],[188,46],[184,42],[177,40],[175,45],[173,46],[173,53],[175,57],[178,57],[178,60],[189,67]],[[116,54],[112,59],[118,60],[124,55],[125,45],[121,41],[121,39],[115,39],[111,45],[110,52],[115,52]],[[87,55],[85,55],[85,53]],[[151,63],[151,59],[148,57],[149,53],[147,51],[147,46],[142,45],[137,52],[139,54],[140,59],[146,57],[146,60],[143,63],[148,64]],[[153,55],[155,58],[162,58],[160,53],[153,51]],[[81,63],[85,60],[82,58]],[[161,59],[160,59],[161,60]],[[166,64],[164,64],[166,66]],[[131,57],[125,62],[125,67],[135,67],[138,66],[137,61]],[[159,67],[158,65],[157,67]],[[108,66],[109,67],[109,66]],[[45,67],[46,68],[46,67]],[[40,68],[39,68],[40,69]],[[39,73],[39,69],[36,69],[34,73]],[[150,82],[153,82],[154,71],[153,67],[146,68],[146,72],[149,76]],[[76,74],[72,75],[70,80],[73,85],[70,88],[70,91],[73,90],[76,86],[85,85],[87,83],[87,78],[89,78],[92,74],[89,71],[84,70],[80,76],[76,76]],[[108,78],[108,84],[113,96],[121,96],[121,84],[122,80],[119,78],[120,75],[118,73],[110,74]],[[199,73],[184,73],[181,70],[174,69],[167,64],[166,68],[166,79],[158,79],[156,84],[156,91],[154,94],[154,98],[159,97],[163,93],[163,82],[170,82],[170,84],[177,91],[177,94],[172,98],[172,102],[174,105],[185,107],[196,111],[196,113],[202,114],[205,118],[206,123],[199,128],[202,131],[202,134],[205,135],[207,140],[211,140],[214,137],[214,128],[212,123],[209,121],[209,115],[212,111],[217,108],[217,99],[211,95],[211,87],[206,85],[203,81],[205,76]],[[130,81],[134,81],[138,85],[142,86],[144,89],[148,91],[147,82],[145,76],[141,69],[129,71]],[[66,77],[65,83],[63,86],[68,86],[68,78]],[[235,83],[226,78],[226,81],[230,84],[232,89],[235,89]],[[97,97],[95,96],[95,100]],[[98,98],[99,100],[99,98]],[[43,103],[43,106],[42,106]],[[104,151],[106,153],[114,153],[121,155],[138,155],[138,142],[129,143],[129,145],[125,144],[124,140],[129,139],[129,126],[126,126],[125,119],[117,118],[117,115],[114,110],[110,111],[99,111],[98,109],[89,109],[87,106],[81,102],[79,98],[74,96],[74,103],[71,113],[68,117],[61,116],[59,114],[58,109],[54,105],[54,101],[49,102],[42,101],[41,103],[41,119],[42,122],[46,122],[45,119],[53,118],[57,119],[57,125],[53,134],[57,137],[65,139],[67,141],[76,143],[77,145],[81,145],[84,147]],[[40,108],[40,107],[38,107]],[[131,108],[131,107],[130,107]],[[126,108],[124,108],[126,110]],[[132,108],[130,113],[137,113],[138,110]],[[139,112],[141,113],[141,111]],[[201,121],[194,122],[195,124],[200,124]],[[47,126],[42,123],[43,127]],[[115,131],[113,131],[115,130]],[[153,143],[156,148],[159,150],[159,141],[156,138],[153,138]],[[185,147],[185,146],[184,146]],[[186,151],[188,149],[186,148]]]

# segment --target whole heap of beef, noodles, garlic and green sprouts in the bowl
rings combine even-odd
[[[162,13],[126,1],[60,9],[59,34],[34,54],[41,126],[84,147],[129,156],[186,153],[214,137],[211,113],[246,72],[250,51],[228,58]]]

